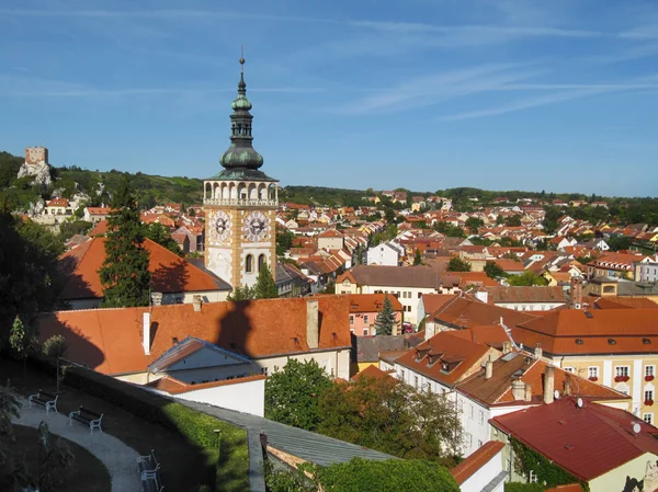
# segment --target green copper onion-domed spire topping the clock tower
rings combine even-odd
[[[238,95],[230,104],[230,147],[222,155],[219,163],[224,171],[214,176],[219,180],[258,180],[275,181],[269,178],[259,168],[263,165],[263,157],[256,151],[251,142],[252,119],[249,111],[253,107],[247,99],[247,84],[245,83],[245,58],[240,58],[240,81]]]

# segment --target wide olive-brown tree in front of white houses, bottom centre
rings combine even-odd
[[[394,378],[333,384],[320,399],[318,432],[405,459],[454,466],[462,426],[445,396]]]

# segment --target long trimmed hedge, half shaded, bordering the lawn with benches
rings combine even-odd
[[[31,365],[46,369],[48,373],[54,371],[54,367],[52,370],[47,369],[49,363],[43,359],[31,361]],[[147,422],[175,431],[191,443],[207,449],[209,454],[217,453],[217,435],[214,431],[222,430],[218,459],[220,466],[217,467],[215,490],[227,492],[249,490],[249,449],[245,428],[83,367],[68,366],[64,382]]]

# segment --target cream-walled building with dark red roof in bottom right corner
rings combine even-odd
[[[491,425],[496,438],[506,444],[514,438],[590,492],[658,490],[658,428],[623,410],[566,397],[494,417]],[[509,444],[503,453],[513,464]],[[526,481],[510,468],[512,481]],[[532,471],[540,483],[551,480],[543,468]]]

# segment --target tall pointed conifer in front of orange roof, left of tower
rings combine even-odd
[[[107,217],[105,261],[99,271],[105,308],[148,306],[149,254],[144,249],[145,227],[128,179],[125,178],[112,203]]]

